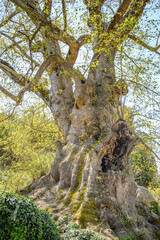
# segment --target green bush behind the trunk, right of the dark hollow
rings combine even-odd
[[[132,151],[130,159],[138,185],[156,186],[157,166],[153,155],[143,145],[139,144]]]

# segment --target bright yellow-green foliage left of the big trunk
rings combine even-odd
[[[0,133],[0,189],[20,190],[49,171],[60,134],[42,106],[1,122]]]

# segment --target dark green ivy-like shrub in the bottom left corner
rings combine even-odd
[[[0,240],[60,240],[54,220],[26,197],[0,192]]]

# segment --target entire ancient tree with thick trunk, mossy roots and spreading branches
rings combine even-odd
[[[148,236],[155,236],[156,226],[136,210],[137,186],[128,156],[139,139],[128,129],[119,110],[120,99],[128,93],[128,88],[115,75],[117,52],[128,38],[155,55],[160,54],[158,44],[152,47],[132,34],[149,1],[115,1],[117,11],[104,0],[74,3],[6,0],[4,3],[13,11],[0,24],[0,34],[7,45],[1,54],[0,69],[20,90],[16,95],[5,84],[0,90],[15,106],[22,102],[26,92],[35,93],[50,109],[65,139],[63,144],[57,142],[56,157],[48,175],[23,192],[31,192],[30,196],[40,206],[45,202],[53,212],[65,209],[83,227],[88,223],[103,223],[106,234],[111,234],[108,229],[112,229],[123,237],[127,234],[126,223],[121,220],[128,219],[128,228],[136,229],[135,234],[145,228]],[[75,9],[76,4],[77,8],[85,7],[88,29],[88,33],[78,37],[72,34],[68,23],[71,7]],[[112,12],[108,21],[103,13],[106,9]],[[89,43],[93,54],[84,74],[74,65],[80,49]],[[11,60],[14,53],[19,56],[16,63]],[[18,72],[23,64],[28,69]],[[53,214],[57,218],[59,215]]]

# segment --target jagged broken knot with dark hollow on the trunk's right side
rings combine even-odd
[[[128,155],[138,142],[139,139],[132,136],[126,121],[119,119],[112,126],[111,135],[99,153],[102,160],[102,172],[127,169]]]

